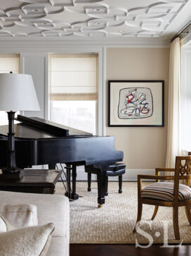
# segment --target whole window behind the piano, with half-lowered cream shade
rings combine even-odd
[[[50,120],[96,133],[98,55],[50,56]]]

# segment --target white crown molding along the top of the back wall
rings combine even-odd
[[[57,52],[66,47],[83,48],[83,47],[169,47],[169,39],[1,39],[0,52],[23,52],[23,51],[41,51]]]

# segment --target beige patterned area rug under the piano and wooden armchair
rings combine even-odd
[[[56,194],[64,192],[62,183],[57,183]],[[91,192],[87,191],[86,182],[77,183],[81,197],[70,202],[70,243],[136,243],[136,239],[138,243],[148,243],[143,233],[132,233],[137,216],[137,183],[124,182],[123,193],[119,194],[118,183],[110,182],[108,192],[105,205],[98,208],[97,183],[92,183]],[[153,211],[153,206],[144,205],[142,219],[150,220]],[[154,243],[164,243],[164,221],[169,221],[168,242],[180,243],[174,240],[172,216],[171,207],[159,207],[154,221],[143,223],[140,228],[152,236]],[[179,208],[179,227],[183,243],[191,243],[191,226],[184,207]]]

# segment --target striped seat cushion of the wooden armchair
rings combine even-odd
[[[141,197],[152,198],[163,201],[173,201],[173,183],[156,182],[148,185],[141,191]],[[179,184],[178,200],[185,201],[191,198],[191,188],[184,184]]]

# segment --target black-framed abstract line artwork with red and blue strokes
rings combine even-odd
[[[164,80],[109,80],[108,126],[164,126]]]

